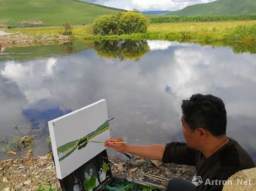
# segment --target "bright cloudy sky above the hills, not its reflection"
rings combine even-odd
[[[139,11],[175,11],[186,6],[209,3],[215,0],[83,0],[119,9]]]

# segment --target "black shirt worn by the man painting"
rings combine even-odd
[[[252,158],[241,145],[236,140],[228,139],[229,143],[207,159],[201,151],[188,148],[186,143],[168,143],[162,162],[194,165],[196,176],[201,176],[203,181],[197,186],[197,191],[221,191],[224,180],[238,171],[255,167]]]

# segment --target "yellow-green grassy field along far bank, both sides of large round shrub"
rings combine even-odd
[[[58,33],[59,27],[13,28],[6,32],[34,35],[37,33]],[[73,39],[163,39],[204,41],[256,41],[256,20],[195,23],[150,24],[145,34],[123,34],[111,36],[93,35],[91,25],[74,26]]]

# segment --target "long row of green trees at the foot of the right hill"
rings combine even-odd
[[[208,21],[232,21],[232,20],[256,20],[256,15],[237,16],[170,16],[154,17],[150,23],[182,23],[182,22],[208,22]]]

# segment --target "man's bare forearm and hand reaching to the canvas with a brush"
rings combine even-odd
[[[105,147],[112,147],[116,151],[135,154],[137,156],[147,158],[150,160],[162,160],[165,145],[127,145],[125,143],[113,143],[123,142],[121,138],[111,138],[105,140]]]

